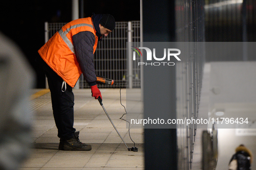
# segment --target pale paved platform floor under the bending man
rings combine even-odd
[[[129,148],[133,147],[126,122],[119,118],[125,113],[120,104],[120,89],[100,89],[103,105]],[[58,150],[59,138],[52,115],[50,92],[33,89],[32,153],[22,164],[22,170],[143,170],[143,129],[130,129],[138,152],[128,151],[113,128],[99,102],[91,97],[91,89],[73,89],[75,94],[74,128],[80,131],[81,142],[92,145],[91,151]],[[139,94],[139,89],[135,89]],[[122,104],[126,106],[126,89],[121,90]],[[129,101],[134,110],[141,110],[140,101]],[[127,108],[126,108],[127,109]],[[129,113],[129,111],[128,111]],[[124,116],[126,118],[126,115]]]

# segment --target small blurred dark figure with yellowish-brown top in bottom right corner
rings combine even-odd
[[[229,161],[228,170],[250,170],[253,162],[252,152],[244,145],[239,145],[235,151]]]

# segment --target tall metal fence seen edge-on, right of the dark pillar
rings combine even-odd
[[[187,56],[186,60],[176,67],[177,118],[189,117],[196,120],[205,57],[204,1],[176,1],[175,8],[177,41],[190,42],[182,50]],[[196,123],[177,129],[178,169],[191,169],[196,129]]]

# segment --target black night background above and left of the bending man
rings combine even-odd
[[[116,21],[140,19],[139,0],[84,0],[84,17],[108,13]],[[45,43],[44,22],[70,22],[72,0],[2,1],[0,31],[21,48],[36,72],[36,88],[45,88],[45,76],[36,64],[37,50]],[[18,70],[17,70],[18,71]]]

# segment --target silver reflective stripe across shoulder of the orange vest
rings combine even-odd
[[[73,29],[73,28],[78,28],[78,27],[83,27],[83,26],[88,26],[93,28],[93,25],[91,24],[77,24],[77,25],[72,25],[70,28],[67,28],[66,31],[63,31],[62,28],[58,30],[59,35],[62,37],[63,41],[67,44],[69,49],[72,51],[72,53],[75,54],[74,46],[71,41],[69,41],[68,37],[66,36],[68,32]],[[94,29],[94,28],[93,28]]]

